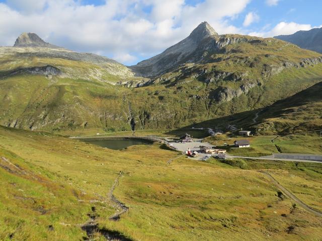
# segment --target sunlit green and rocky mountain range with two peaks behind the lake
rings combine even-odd
[[[24,33],[14,47],[0,47],[0,125],[54,132],[180,128],[269,107],[321,77],[321,54],[273,38],[218,35],[206,22],[129,67]]]

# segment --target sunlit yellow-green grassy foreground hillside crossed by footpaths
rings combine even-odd
[[[321,219],[257,170],[322,210],[321,165],[178,156],[158,144],[113,151],[47,133],[0,128],[0,239],[80,240],[90,217],[127,240],[318,240]],[[177,158],[178,157],[178,158]],[[170,159],[174,159],[167,164]],[[119,221],[108,193],[129,207]],[[292,178],[290,178],[292,177]],[[305,185],[305,186],[303,186]],[[10,201],[9,201],[10,200]],[[104,240],[102,232],[95,233]]]

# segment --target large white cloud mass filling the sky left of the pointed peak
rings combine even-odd
[[[82,52],[114,56],[134,64],[187,37],[203,21],[219,34],[242,33],[230,19],[251,0],[106,0],[100,6],[81,0],[8,0],[0,3],[0,45],[13,45],[22,32]],[[143,11],[150,9],[150,11]],[[131,53],[131,54],[129,54]]]

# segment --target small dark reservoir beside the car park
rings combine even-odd
[[[142,140],[100,140],[100,141],[86,141],[88,143],[98,145],[101,147],[106,147],[113,150],[122,150],[124,148],[134,146],[134,145],[151,145],[149,142]]]

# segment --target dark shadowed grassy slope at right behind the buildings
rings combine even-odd
[[[318,82],[264,108],[212,119],[194,126],[217,127],[229,131],[228,124],[230,124],[237,129],[250,129],[255,134],[263,135],[287,135],[322,130],[321,91],[322,82]]]

